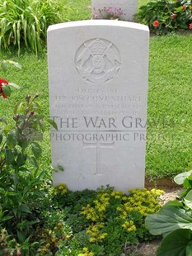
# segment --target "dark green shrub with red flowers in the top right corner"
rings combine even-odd
[[[179,29],[192,29],[192,4],[189,0],[157,0],[139,8],[138,22],[151,32],[165,35]]]

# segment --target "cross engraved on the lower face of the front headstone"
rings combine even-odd
[[[83,147],[96,148],[96,173],[94,175],[101,175],[101,148],[113,149],[115,142],[101,143],[96,141],[95,143],[87,143],[83,141]]]

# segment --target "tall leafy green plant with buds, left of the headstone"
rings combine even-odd
[[[48,211],[50,200],[49,175],[39,168],[41,147],[35,141],[45,126],[38,97],[27,95],[26,102],[16,105],[15,125],[5,119],[0,124],[0,227],[10,236],[7,245],[16,238],[25,255],[37,249],[35,226],[42,221],[41,211]]]

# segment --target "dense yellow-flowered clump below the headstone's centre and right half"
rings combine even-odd
[[[127,253],[125,244],[150,239],[144,220],[149,213],[160,209],[161,194],[162,191],[156,189],[136,189],[126,195],[115,192],[112,187],[101,188],[96,199],[82,207],[82,215],[89,223],[87,248],[96,255],[119,255]],[[101,249],[102,244],[105,244],[104,249]]]

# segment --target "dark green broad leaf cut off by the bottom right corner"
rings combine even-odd
[[[175,230],[162,240],[162,244],[157,249],[157,256],[186,256],[191,255],[191,230]],[[186,254],[186,249],[190,249],[190,254]]]

